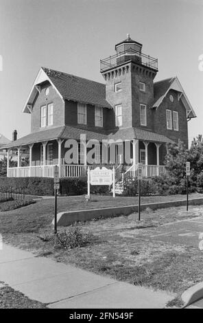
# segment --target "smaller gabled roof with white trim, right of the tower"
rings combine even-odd
[[[178,100],[182,101],[186,111],[187,111],[187,118],[195,118],[195,112],[193,111],[193,107],[189,102],[186,94],[184,93],[184,89],[180,84],[177,76],[173,78],[167,78],[166,80],[160,80],[154,83],[154,104],[153,108],[158,108],[160,104],[163,102],[167,93],[171,90],[175,90],[178,92]]]

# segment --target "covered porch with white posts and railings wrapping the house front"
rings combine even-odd
[[[106,164],[102,162],[102,148],[99,146],[101,156],[97,156],[95,164],[89,164],[87,160],[88,146],[85,143],[83,149],[78,146],[78,159],[77,164],[66,164],[65,162],[65,140],[46,140],[32,144],[23,144],[14,147],[17,155],[17,166],[10,167],[8,162],[8,177],[53,177],[54,166],[59,167],[60,177],[84,177],[86,176],[87,167],[95,166],[115,166],[119,170],[123,166],[122,172],[125,177],[136,177],[138,164],[143,164],[143,177],[154,177],[165,172],[163,165],[163,155],[165,155],[165,145],[158,142],[147,142],[143,140],[130,140],[130,163],[125,164],[125,158],[119,151],[115,150],[115,163],[110,162],[109,156],[107,157]],[[160,147],[162,151],[160,152]],[[13,148],[8,148],[7,155],[8,161],[10,160],[10,152]],[[29,159],[27,166],[21,166],[21,153],[27,149],[29,152]],[[82,151],[82,156],[81,156]],[[108,151],[109,154],[109,151]],[[96,157],[96,156],[95,156]]]

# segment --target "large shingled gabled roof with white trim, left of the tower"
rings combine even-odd
[[[106,86],[103,83],[41,67],[23,107],[23,112],[31,112],[30,106],[32,106],[38,93],[38,85],[45,81],[51,83],[62,100],[73,100],[112,109],[106,101]]]

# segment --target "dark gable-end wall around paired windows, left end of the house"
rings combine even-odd
[[[45,95],[45,89],[49,87],[49,95]],[[53,126],[64,126],[64,102],[59,94],[51,85],[44,86],[41,92],[37,94],[31,113],[31,131],[42,131],[50,129],[40,125],[40,109],[44,105],[53,103]]]

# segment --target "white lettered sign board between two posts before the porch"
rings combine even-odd
[[[102,167],[90,171],[91,185],[111,185],[113,181],[112,170]]]

